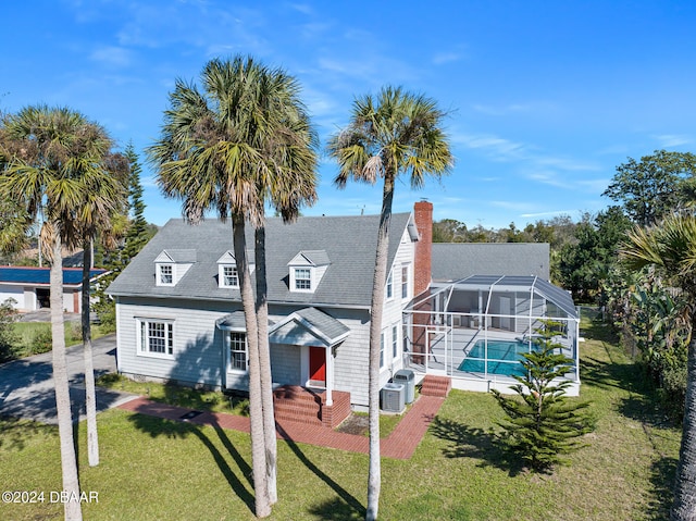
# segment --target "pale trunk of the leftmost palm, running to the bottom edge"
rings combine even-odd
[[[79,480],[77,476],[77,459],[73,439],[73,414],[70,406],[70,387],[67,381],[67,361],[65,359],[65,325],[63,323],[63,258],[61,238],[58,226],[53,232],[51,259],[51,334],[53,336],[53,383],[55,385],[55,410],[58,413],[58,432],[61,443],[61,469],[63,474],[63,492],[71,499],[63,505],[66,521],[82,521],[83,511],[79,504]]]

